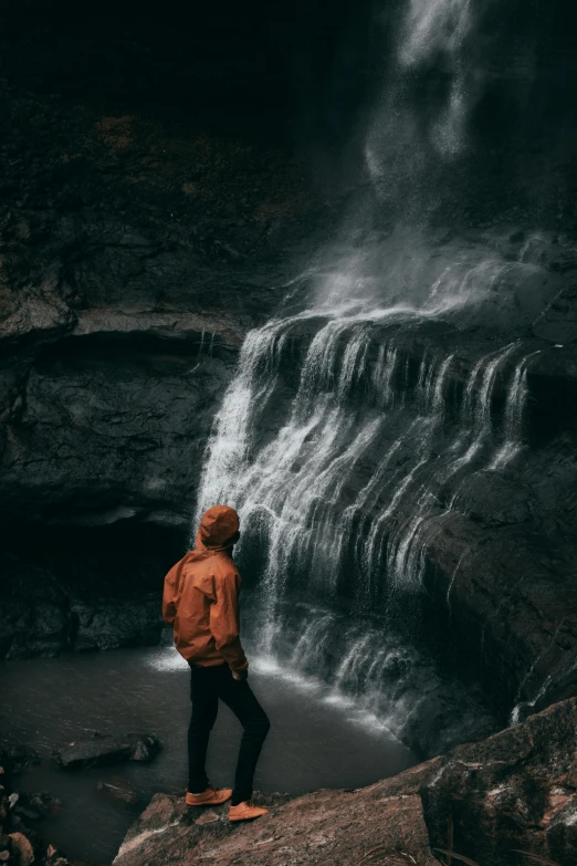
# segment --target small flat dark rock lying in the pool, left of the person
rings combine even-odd
[[[54,755],[62,766],[95,766],[116,761],[151,761],[160,748],[159,740],[149,733],[127,733],[124,737],[95,733],[56,749]]]

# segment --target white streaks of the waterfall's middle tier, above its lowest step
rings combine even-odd
[[[285,398],[275,426],[271,396],[283,387],[283,349],[315,313],[318,330],[304,353],[296,394],[292,403]],[[384,587],[389,596],[420,591],[431,533],[457,507],[457,497],[443,505],[439,491],[458,473],[464,479],[494,460],[493,392],[516,351],[510,344],[473,365],[447,439],[453,353],[426,351],[417,363],[398,342],[397,310],[340,315],[321,326],[315,313],[248,335],[217,417],[199,497],[199,512],[218,502],[235,507],[243,538],[248,528],[265,551],[264,650],[282,630],[286,591],[300,583],[329,601],[354,567],[355,596],[366,608]],[[409,321],[423,319],[411,314]],[[389,328],[387,320],[397,324]]]

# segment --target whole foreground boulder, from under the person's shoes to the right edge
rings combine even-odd
[[[157,794],[128,832],[116,866],[214,863],[285,866],[437,863],[451,846],[480,866],[577,862],[577,699],[357,791],[316,791],[253,825],[227,807],[199,812]],[[259,799],[261,802],[261,799]]]

